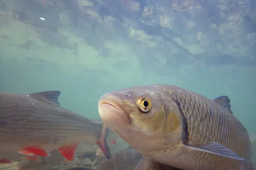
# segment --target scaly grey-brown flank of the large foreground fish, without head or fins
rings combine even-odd
[[[185,118],[184,127],[187,130],[184,141],[189,145],[202,145],[209,142],[219,142],[231,149],[238,156],[248,159],[250,152],[249,135],[241,122],[228,110],[216,102],[189,90],[169,85],[154,85],[178,105]],[[211,166],[235,165],[237,160],[221,157],[215,154],[197,152],[193,161],[203,163],[205,168]],[[221,161],[220,161],[221,160]],[[211,162],[211,164],[209,163]]]

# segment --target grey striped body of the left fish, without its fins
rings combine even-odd
[[[28,95],[0,93],[0,109],[1,133],[12,133],[10,136],[1,137],[0,145],[23,145],[34,141],[35,137],[40,143],[57,144],[63,137],[87,135],[89,140],[97,140],[101,136],[101,125]],[[38,114],[35,114],[36,112]],[[55,138],[49,135],[53,131]]]

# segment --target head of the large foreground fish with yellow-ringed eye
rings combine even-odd
[[[102,121],[135,149],[155,150],[180,141],[183,122],[178,105],[157,86],[106,93],[98,107]]]

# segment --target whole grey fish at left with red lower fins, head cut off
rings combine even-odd
[[[59,150],[73,161],[82,142],[93,141],[110,158],[108,127],[60,107],[60,93],[0,93],[0,154],[50,157],[51,150]]]

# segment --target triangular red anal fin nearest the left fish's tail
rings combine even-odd
[[[76,150],[79,147],[78,143],[69,146],[62,146],[58,150],[69,161],[74,161],[77,153]]]

